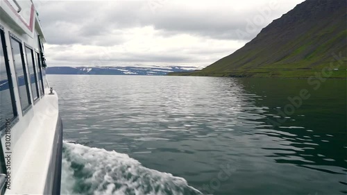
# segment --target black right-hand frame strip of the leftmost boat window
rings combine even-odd
[[[12,73],[10,69],[10,60],[8,58],[8,52],[7,52],[7,44],[6,44],[6,37],[5,37],[5,31],[3,26],[0,25],[0,41],[2,44],[2,49],[3,49],[3,58],[5,60],[5,67],[6,67],[6,74],[8,78],[8,90],[10,90],[10,97],[11,97],[11,103],[12,103],[12,112],[13,112],[13,117],[11,120],[11,126],[14,126],[17,121],[19,121],[18,117],[18,110],[17,110],[17,104],[16,104],[16,99],[15,99],[15,87],[13,85],[12,81]],[[0,137],[3,137],[4,131],[3,129],[5,128],[5,125],[0,125]]]

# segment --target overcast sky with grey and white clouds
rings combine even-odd
[[[205,67],[304,0],[34,1],[53,66]]]

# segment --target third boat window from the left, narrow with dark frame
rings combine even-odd
[[[28,62],[28,72],[31,83],[31,92],[33,94],[34,101],[39,98],[39,89],[37,86],[37,77],[36,77],[36,69],[35,69],[35,58],[33,49],[30,49],[28,46],[25,47],[26,53],[26,62]]]

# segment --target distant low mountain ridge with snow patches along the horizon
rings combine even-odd
[[[96,75],[166,75],[169,72],[194,71],[196,67],[48,67],[46,74],[96,74]]]

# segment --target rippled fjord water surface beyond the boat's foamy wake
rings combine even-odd
[[[62,79],[63,77],[63,79]],[[346,85],[327,81],[293,115],[305,80],[49,76],[65,139],[127,153],[145,167],[210,185],[205,194],[337,194],[346,189]],[[73,108],[73,109],[72,109]],[[279,126],[269,123],[284,121]],[[324,178],[324,179],[322,179]],[[251,187],[250,187],[251,186]]]

